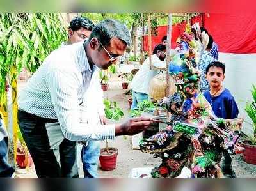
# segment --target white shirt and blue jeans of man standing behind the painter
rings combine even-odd
[[[84,95],[81,120],[93,125],[106,124],[103,104],[103,91],[100,85],[99,68],[93,73],[90,86]],[[78,145],[79,148],[79,145]],[[83,162],[84,177],[98,177],[98,159],[100,155],[100,141],[88,141],[83,144],[81,160]]]

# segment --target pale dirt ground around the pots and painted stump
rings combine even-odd
[[[109,82],[109,91],[104,93],[105,98],[115,100],[124,111],[125,121],[129,118],[128,102],[129,95],[124,95],[127,90],[122,90],[120,79],[111,77]],[[120,122],[122,122],[120,121]],[[111,122],[111,121],[109,121]],[[131,149],[131,137],[116,137],[114,141],[108,141],[109,146],[118,149],[118,160],[116,169],[113,171],[98,170],[99,177],[111,178],[127,178],[132,168],[136,167],[155,167],[160,164],[160,159],[153,158],[152,155],[142,153],[140,150]],[[105,142],[101,143],[102,148],[105,147]],[[242,155],[235,155],[232,157],[232,165],[239,178],[256,178],[256,165],[246,164],[243,161]],[[18,169],[17,177],[36,177],[35,169],[31,167],[28,171],[26,169]]]

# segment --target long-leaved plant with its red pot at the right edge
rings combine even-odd
[[[249,123],[253,128],[253,135],[248,139],[242,141],[244,147],[243,158],[244,161],[249,164],[256,164],[256,86],[252,86],[252,102],[246,102],[244,110],[248,114],[249,118],[252,119],[252,123]]]

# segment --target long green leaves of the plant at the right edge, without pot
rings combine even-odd
[[[252,123],[249,123],[253,128],[253,135],[250,138],[252,145],[256,145],[256,86],[252,85],[252,102],[247,101],[244,110],[248,114],[249,118],[252,119]]]

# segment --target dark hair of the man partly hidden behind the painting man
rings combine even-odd
[[[92,31],[94,24],[92,20],[86,17],[75,17],[74,19],[71,20],[68,29],[71,29],[72,31],[77,31],[81,27],[89,31]]]

